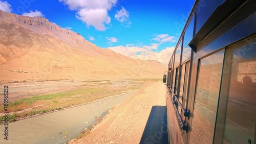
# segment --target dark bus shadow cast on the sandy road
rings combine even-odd
[[[168,143],[165,106],[153,106],[140,139],[142,144]]]

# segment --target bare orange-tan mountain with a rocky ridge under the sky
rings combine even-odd
[[[1,81],[161,78],[166,68],[102,49],[44,17],[0,10]]]

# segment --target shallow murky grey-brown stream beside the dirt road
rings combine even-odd
[[[95,116],[99,117],[133,93],[10,123],[8,124],[8,140],[5,140],[3,135],[5,126],[0,125],[0,143],[58,144],[68,142],[68,138],[77,137],[85,128],[95,124]],[[68,133],[65,134],[66,132]]]

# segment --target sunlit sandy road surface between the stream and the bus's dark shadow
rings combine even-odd
[[[139,143],[153,106],[165,106],[161,82],[147,82],[131,97],[111,109],[91,133],[73,143]]]

